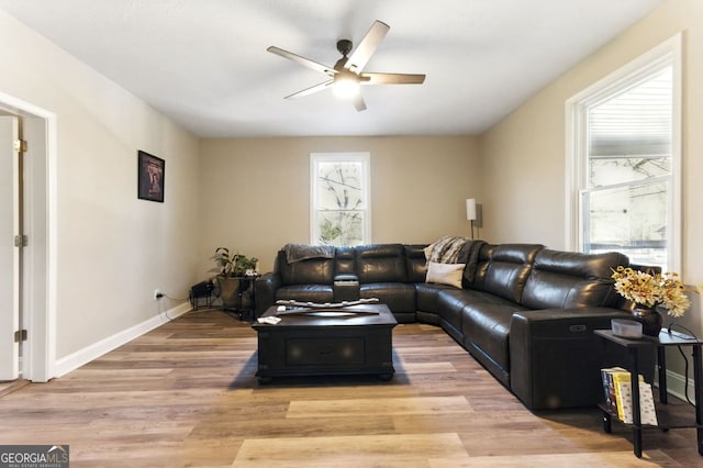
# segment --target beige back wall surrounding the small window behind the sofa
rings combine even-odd
[[[465,199],[480,201],[473,137],[301,137],[201,142],[201,275],[226,246],[272,266],[288,242],[310,242],[310,153],[369,152],[372,242],[469,235]]]

